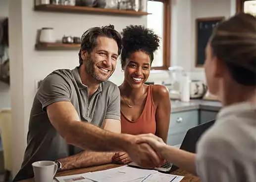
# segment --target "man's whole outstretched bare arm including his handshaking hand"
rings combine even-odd
[[[125,151],[134,162],[143,167],[161,164],[148,144],[137,144],[139,137],[115,134],[81,122],[74,106],[68,101],[48,105],[47,113],[53,127],[69,144],[95,151]]]

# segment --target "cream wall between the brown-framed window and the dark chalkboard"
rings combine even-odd
[[[172,0],[171,65],[182,66],[193,80],[205,80],[195,67],[196,18],[235,14],[236,0]]]

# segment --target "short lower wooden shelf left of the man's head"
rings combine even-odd
[[[80,44],[62,44],[62,43],[38,43],[37,50],[77,50]]]

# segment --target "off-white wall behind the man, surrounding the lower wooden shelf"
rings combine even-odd
[[[35,95],[35,82],[51,71],[78,65],[78,50],[37,51],[37,30],[53,27],[55,37],[81,36],[90,27],[114,24],[118,31],[126,25],[146,25],[147,17],[38,12],[34,0],[10,0],[11,107],[13,126],[13,173],[20,168],[26,146],[28,121]],[[120,66],[116,74],[120,73]],[[19,144],[17,144],[19,138]]]

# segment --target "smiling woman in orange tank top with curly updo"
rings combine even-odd
[[[121,133],[151,133],[166,142],[171,112],[168,90],[162,85],[145,85],[154,51],[159,47],[159,37],[138,25],[127,26],[122,36]],[[113,162],[128,164],[132,161],[125,152],[116,152]]]

